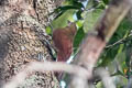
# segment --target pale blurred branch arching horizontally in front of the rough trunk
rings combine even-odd
[[[24,81],[24,79],[34,72],[45,72],[45,70],[55,70],[55,72],[66,72],[73,74],[80,78],[89,78],[89,72],[82,67],[76,65],[68,65],[66,63],[57,62],[32,62],[14,76],[11,81],[9,81],[3,88],[15,88]]]

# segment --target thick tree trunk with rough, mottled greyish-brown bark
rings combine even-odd
[[[63,0],[0,0],[0,88],[32,61],[52,61],[48,15]],[[43,43],[42,43],[43,41]],[[33,73],[19,88],[58,88],[54,73]]]

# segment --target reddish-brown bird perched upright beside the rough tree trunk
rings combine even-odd
[[[66,62],[70,57],[76,32],[75,23],[53,31],[53,43],[57,51],[57,62]]]

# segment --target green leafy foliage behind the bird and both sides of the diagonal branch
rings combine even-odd
[[[58,14],[52,22],[53,29],[64,28],[68,21],[75,22],[78,31],[74,40],[74,53],[79,50],[79,44],[86,33],[92,30],[94,24],[101,16],[102,11],[108,7],[110,0],[66,0],[58,7],[55,12]],[[87,3],[87,4],[86,4]],[[52,31],[48,29],[48,34]],[[118,31],[113,34],[110,42],[102,52],[97,67],[103,66],[108,68],[113,77],[117,87],[121,88],[128,84],[128,79],[132,76],[132,21],[125,18]],[[101,88],[101,82],[97,82],[97,88]]]

